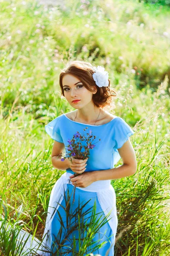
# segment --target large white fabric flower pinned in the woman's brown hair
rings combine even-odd
[[[93,73],[93,79],[96,82],[96,85],[99,87],[103,86],[108,86],[109,85],[109,74],[107,71],[105,71],[104,67],[98,66],[98,67],[93,67],[95,70],[95,73]]]

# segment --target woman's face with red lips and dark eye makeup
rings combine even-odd
[[[70,74],[64,75],[62,78],[62,86],[64,96],[73,108],[83,108],[92,101],[93,93],[86,89],[82,82],[75,76]],[[96,90],[94,92],[96,92]],[[76,103],[72,102],[75,99],[80,99],[80,101]]]

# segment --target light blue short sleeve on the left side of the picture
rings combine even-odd
[[[62,136],[59,129],[59,119],[55,118],[47,125],[45,125],[45,131],[51,136],[53,140],[63,143]]]

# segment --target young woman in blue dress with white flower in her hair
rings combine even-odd
[[[57,252],[59,245],[59,233],[62,220],[63,232],[67,230],[66,201],[64,193],[69,195],[70,215],[78,209],[79,205],[85,205],[83,212],[94,206],[96,202],[96,215],[106,218],[110,212],[108,222],[99,228],[84,255],[93,253],[104,256],[109,250],[108,256],[114,255],[114,244],[117,230],[116,195],[111,180],[133,175],[136,172],[136,156],[129,137],[134,134],[130,126],[119,116],[114,116],[105,110],[112,105],[111,97],[116,92],[111,88],[108,72],[101,66],[93,67],[85,61],[72,61],[65,67],[59,76],[59,84],[62,96],[68,101],[74,111],[64,113],[45,125],[45,131],[54,140],[52,148],[52,164],[56,169],[66,172],[55,183],[48,206],[48,215],[45,224],[44,240],[51,252]],[[114,94],[112,94],[112,92]],[[100,140],[90,150],[88,159],[80,160],[68,158],[61,161],[59,156],[68,140],[79,131],[83,134],[88,127],[93,135]],[[87,132],[89,130],[86,130]],[[123,164],[117,168],[114,165],[122,158]],[[75,173],[81,175],[74,175]],[[75,201],[73,204],[73,190],[75,186]],[[68,199],[68,198],[67,198]],[[88,224],[92,211],[85,216]],[[73,227],[75,219],[71,219],[69,227]],[[78,222],[78,220],[77,220]],[[88,233],[89,234],[89,233]],[[62,233],[60,252],[69,251],[73,247],[74,236],[76,250],[79,252],[78,227],[70,235]],[[72,240],[71,240],[72,239]],[[96,241],[96,243],[93,243]],[[93,250],[97,244],[105,244],[97,250]],[[73,251],[61,255],[77,255]],[[44,255],[50,255],[44,253]],[[57,255],[57,254],[56,254]],[[59,254],[60,255],[60,254]]]

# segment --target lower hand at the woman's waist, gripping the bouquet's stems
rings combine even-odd
[[[94,172],[82,172],[81,175],[74,176],[71,175],[69,176],[71,179],[71,182],[74,186],[80,187],[80,188],[86,188],[89,186],[91,183],[95,181],[94,179]],[[75,183],[76,181],[76,183]]]

